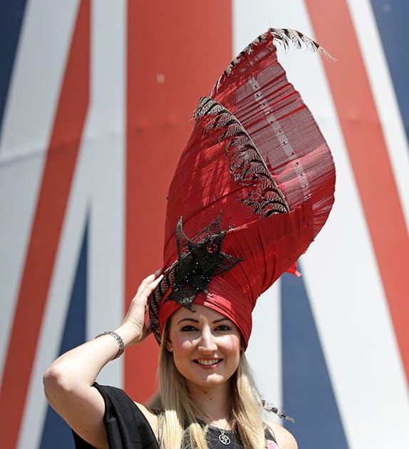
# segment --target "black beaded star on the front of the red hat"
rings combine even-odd
[[[189,239],[182,228],[182,217],[176,225],[177,272],[172,292],[165,301],[176,301],[192,310],[192,302],[202,291],[207,295],[214,276],[227,272],[242,261],[222,252],[222,244],[230,228],[222,231],[222,213],[205,229]]]

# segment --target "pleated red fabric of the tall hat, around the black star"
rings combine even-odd
[[[277,60],[274,41],[280,36],[269,29],[245,48],[195,111],[195,128],[169,189],[167,270],[150,301],[159,342],[165,322],[181,304],[172,291],[182,254],[176,234],[180,219],[185,237],[198,236],[196,243],[217,217],[221,229],[228,229],[221,251],[240,262],[208,279],[194,303],[231,319],[247,344],[260,294],[284,272],[296,273],[296,260],[333,205],[331,151]],[[190,249],[187,245],[183,252]]]

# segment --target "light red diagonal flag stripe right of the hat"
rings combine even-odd
[[[306,5],[317,41],[338,58],[325,70],[409,381],[409,239],[388,148],[346,0]]]

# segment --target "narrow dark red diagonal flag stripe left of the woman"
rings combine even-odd
[[[0,392],[1,446],[16,448],[89,99],[90,1],[78,9],[31,229]]]

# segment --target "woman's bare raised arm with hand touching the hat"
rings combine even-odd
[[[155,273],[143,280],[123,323],[115,329],[125,347],[140,343],[150,333],[145,325],[147,299],[160,278]],[[58,357],[43,376],[50,405],[95,448],[108,448],[108,442],[103,424],[105,405],[92,385],[100,370],[117,354],[118,342],[112,335],[103,335]]]

